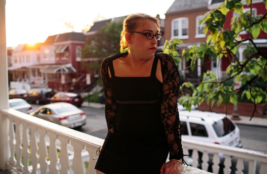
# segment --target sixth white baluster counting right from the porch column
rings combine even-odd
[[[57,135],[51,132],[48,132],[47,135],[49,136],[50,139],[49,152],[48,152],[48,157],[50,159],[49,173],[57,174],[59,173],[59,168],[57,167],[58,155],[56,150]]]

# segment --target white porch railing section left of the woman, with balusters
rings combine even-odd
[[[3,154],[8,156],[6,165],[16,172],[95,173],[96,151],[103,139],[13,109],[2,109],[0,118],[0,133],[8,133],[2,135],[6,140],[3,144],[6,149]],[[85,163],[88,163],[87,172]]]

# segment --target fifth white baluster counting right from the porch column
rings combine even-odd
[[[48,166],[47,160],[46,160],[46,156],[47,156],[46,141],[45,141],[46,131],[42,129],[38,129],[38,132],[40,134],[40,142],[39,142],[40,170],[41,170],[41,173],[46,173],[47,166]]]

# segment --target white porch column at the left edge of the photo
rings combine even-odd
[[[8,107],[8,69],[5,32],[5,0],[0,0],[0,110]],[[0,170],[7,170],[8,119],[0,112]]]

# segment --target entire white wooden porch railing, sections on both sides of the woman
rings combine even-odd
[[[2,162],[5,165],[1,165],[20,174],[94,174],[96,151],[104,141],[13,109],[0,110],[0,135],[3,142],[0,150],[5,149],[2,151]],[[209,154],[213,154],[212,171],[218,174],[220,153],[225,154],[224,174],[233,173],[230,168],[233,165],[236,168],[234,173],[237,174],[243,174],[243,169],[248,174],[267,173],[266,153],[192,140],[182,140],[182,144],[184,154],[189,154],[189,150],[192,150],[193,168],[185,168],[192,173],[208,171]],[[202,152],[203,162],[200,164],[198,151]],[[236,164],[231,156],[235,156]],[[85,163],[88,164],[87,168]],[[199,166],[204,171],[192,171]],[[260,166],[258,171],[256,166]]]

